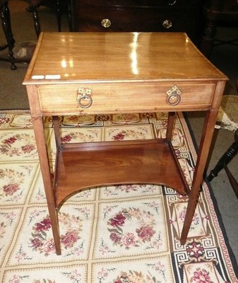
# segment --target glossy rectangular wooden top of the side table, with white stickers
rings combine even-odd
[[[226,79],[184,33],[41,33],[24,84]]]

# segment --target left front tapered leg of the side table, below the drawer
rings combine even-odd
[[[42,170],[42,178],[44,182],[44,190],[47,197],[47,204],[49,209],[49,217],[52,224],[52,231],[54,237],[54,246],[56,254],[61,255],[60,236],[59,236],[59,222],[56,214],[56,205],[54,200],[54,191],[52,188],[52,178],[50,174],[49,158],[47,153],[47,146],[44,137],[44,125],[41,116],[32,116],[32,124],[35,132],[35,141],[37,144],[38,155],[40,159],[40,167]]]

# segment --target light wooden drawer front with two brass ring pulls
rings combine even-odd
[[[214,83],[91,83],[38,86],[42,113],[115,113],[208,110]],[[90,93],[83,98],[79,88]],[[88,91],[89,90],[89,91]],[[175,93],[174,93],[175,91]],[[77,101],[78,99],[78,101]],[[83,106],[83,107],[82,107]],[[86,108],[84,108],[86,107]]]

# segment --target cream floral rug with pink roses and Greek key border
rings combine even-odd
[[[44,125],[54,163],[50,117]],[[61,117],[68,143],[165,137],[166,125],[165,113]],[[182,114],[172,143],[191,184],[196,151]],[[56,255],[26,111],[0,112],[0,166],[2,283],[238,282],[206,183],[185,246],[179,237],[187,197],[164,185],[117,185],[83,190],[64,203]]]

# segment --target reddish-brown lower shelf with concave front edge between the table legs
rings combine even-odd
[[[119,184],[162,184],[189,192],[174,150],[165,139],[64,144],[54,175],[56,207],[75,192]]]

